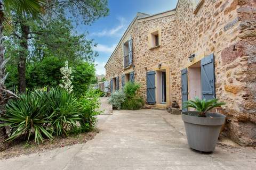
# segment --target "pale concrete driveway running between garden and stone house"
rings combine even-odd
[[[255,169],[256,149],[218,145],[213,154],[188,148],[180,115],[114,111],[100,115],[101,132],[70,147],[2,160],[0,169]]]

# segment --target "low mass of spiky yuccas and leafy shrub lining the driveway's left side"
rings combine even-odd
[[[97,123],[99,98],[90,91],[79,99],[61,88],[34,90],[18,97],[9,100],[0,117],[0,127],[11,128],[7,140],[23,135],[29,140],[34,135],[35,143],[39,143],[45,138],[90,131]]]

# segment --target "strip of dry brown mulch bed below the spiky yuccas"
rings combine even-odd
[[[86,143],[87,141],[92,140],[97,133],[99,133],[99,130],[95,129],[91,132],[69,135],[66,138],[55,137],[53,140],[44,140],[44,143],[40,145],[34,144],[34,140],[30,140],[27,145],[24,140],[14,140],[8,143],[5,149],[0,152],[0,160],[17,157],[23,154],[34,154],[45,150]]]

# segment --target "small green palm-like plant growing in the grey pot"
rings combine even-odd
[[[183,104],[185,104],[184,108],[195,108],[196,111],[199,112],[199,116],[206,117],[206,112],[210,111],[212,108],[225,105],[226,103],[219,102],[216,98],[206,100],[195,97],[194,100],[185,101]]]

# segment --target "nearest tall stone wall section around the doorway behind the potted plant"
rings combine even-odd
[[[216,97],[227,103],[226,134],[241,145],[256,145],[255,4],[205,1],[194,15],[189,1],[180,1],[176,14],[180,67],[173,72],[179,73],[190,53],[214,54]],[[179,85],[171,91],[180,91],[180,77],[174,81]]]

